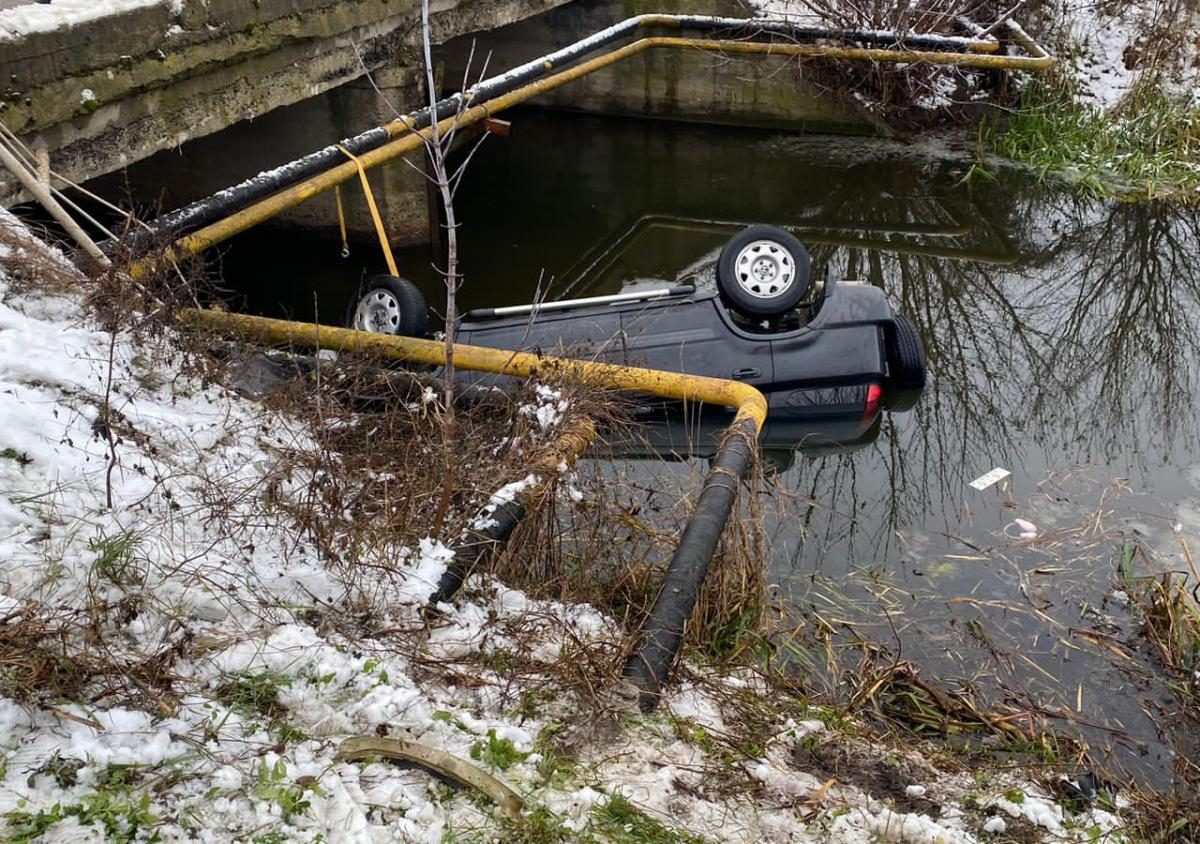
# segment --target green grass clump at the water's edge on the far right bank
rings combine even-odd
[[[982,127],[983,144],[1064,176],[1085,194],[1200,199],[1200,109],[1140,85],[1116,114],[1081,102],[1069,85],[1026,85],[1015,114]]]

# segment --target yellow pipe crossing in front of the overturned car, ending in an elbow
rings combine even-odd
[[[431,366],[445,364],[445,343],[436,340],[397,337],[390,334],[197,309],[181,311],[181,317],[193,325],[236,333],[269,343],[331,348],[341,352],[367,352],[406,360],[410,364]],[[754,423],[755,432],[762,431],[762,424],[767,419],[767,399],[762,393],[749,384],[724,378],[643,370],[590,360],[546,358],[528,352],[460,345],[454,347],[454,365],[461,370],[493,372],[520,378],[550,371],[604,389],[634,390],[661,399],[734,407],[737,415],[733,421],[750,420]]]

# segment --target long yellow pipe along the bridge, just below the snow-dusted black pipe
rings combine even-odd
[[[1032,42],[1030,42],[1032,43]],[[856,60],[870,60],[870,61],[890,61],[890,62],[929,62],[929,64],[944,64],[944,65],[956,65],[961,67],[985,67],[985,68],[1006,68],[1006,70],[1044,70],[1054,64],[1054,56],[1048,55],[1044,50],[1038,48],[1040,55],[1027,55],[1027,56],[1009,56],[1009,55],[978,55],[970,53],[936,53],[928,50],[895,50],[895,49],[866,49],[866,48],[850,48],[850,47],[823,47],[815,44],[788,44],[788,43],[757,43],[748,41],[706,41],[703,38],[677,38],[677,37],[650,37],[641,38],[624,47],[619,47],[611,53],[605,55],[589,59],[575,67],[570,67],[565,71],[559,71],[553,76],[546,77],[544,79],[538,79],[523,85],[516,90],[509,91],[508,94],[493,97],[484,103],[470,106],[457,115],[446,118],[438,124],[438,131],[440,133],[449,132],[452,127],[469,126],[475,124],[487,116],[498,114],[506,108],[511,108],[518,103],[529,100],[539,94],[554,90],[562,85],[580,79],[589,73],[594,73],[604,67],[613,65],[623,59],[626,59],[643,50],[654,47],[666,47],[666,48],[696,48],[701,50],[709,52],[721,52],[721,53],[748,53],[748,54],[764,54],[764,55],[788,55],[788,56],[827,56],[835,59],[856,59]],[[1037,47],[1037,44],[1033,44]],[[364,167],[371,168],[382,164],[386,161],[396,158],[406,152],[412,152],[432,138],[433,132],[431,127],[426,127],[421,131],[413,131],[410,124],[407,119],[394,120],[385,127],[389,134],[402,134],[396,140],[391,140],[382,146],[378,146],[368,152],[364,152],[359,156]],[[205,226],[197,229],[192,234],[178,240],[172,250],[168,251],[168,257],[178,257],[178,252],[182,251],[185,253],[196,255],[202,252],[210,246],[223,243],[235,234],[240,234],[246,229],[257,226],[264,220],[270,220],[278,214],[282,214],[289,208],[294,208],[302,202],[306,202],[318,193],[323,193],[343,181],[353,179],[358,173],[358,167],[354,162],[346,162],[338,164],[324,173],[306,179],[292,187],[284,188],[278,193],[275,193],[260,202],[244,208],[242,210],[229,215],[224,220],[220,220],[215,223]],[[138,262],[133,265],[131,273],[133,277],[139,277],[148,269],[146,262]]]

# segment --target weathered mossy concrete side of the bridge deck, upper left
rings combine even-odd
[[[562,2],[434,0],[434,41]],[[178,13],[170,4],[148,6],[0,40],[0,119],[30,145],[49,150],[58,172],[83,181],[308,100],[367,68],[419,64],[419,0],[176,5]],[[350,131],[371,125],[368,119]],[[24,198],[0,173],[0,202]]]

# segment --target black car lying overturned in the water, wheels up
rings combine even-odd
[[[852,439],[881,409],[916,402],[924,351],[883,291],[828,273],[814,280],[804,246],[772,226],[730,239],[715,275],[709,293],[673,286],[469,311],[456,340],[742,381],[768,399],[768,435],[836,419],[841,438]],[[350,303],[348,324],[420,336],[425,300],[402,279],[376,276]]]

